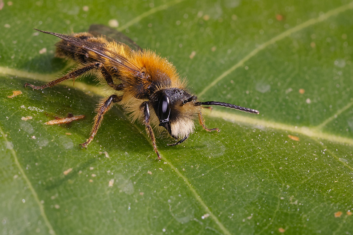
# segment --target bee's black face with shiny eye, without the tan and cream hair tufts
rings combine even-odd
[[[150,97],[152,107],[159,118],[159,126],[166,128],[170,135],[172,132],[170,122],[178,118],[179,111],[176,106],[183,106],[192,100],[196,100],[196,97],[179,88],[162,89]],[[173,137],[178,138],[178,136]]]

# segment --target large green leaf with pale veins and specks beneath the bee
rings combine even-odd
[[[352,2],[1,7],[2,234],[353,233]],[[197,127],[175,147],[158,137],[156,161],[144,127],[114,106],[81,149],[107,94],[92,77],[24,88],[68,68],[54,58],[58,38],[32,28],[71,33],[116,22],[173,62],[200,99],[260,115],[205,110],[207,126],[221,132]],[[13,91],[22,94],[8,98]],[[67,113],[86,118],[44,124]]]

